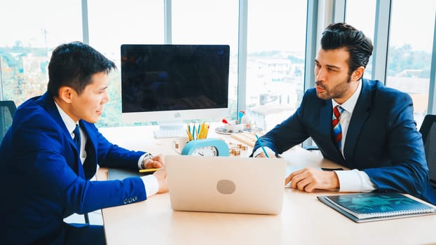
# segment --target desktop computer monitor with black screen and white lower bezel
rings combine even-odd
[[[229,52],[229,45],[121,45],[123,121],[225,117]]]

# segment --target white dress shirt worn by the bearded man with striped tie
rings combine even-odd
[[[351,116],[353,115],[353,111],[355,108],[355,105],[357,103],[357,99],[359,99],[360,91],[362,90],[362,80],[359,81],[359,85],[357,85],[357,89],[355,90],[354,94],[347,99],[346,102],[343,102],[340,106],[344,109],[343,113],[341,113],[341,119],[339,122],[341,123],[341,129],[342,129],[342,139],[341,139],[341,145],[343,146],[341,148],[341,153],[343,155],[343,148],[345,148],[346,144],[346,136],[348,131],[348,125],[350,124]],[[332,99],[332,106],[339,105]],[[266,152],[268,155],[275,155],[273,150],[271,148],[265,147]],[[262,149],[259,147],[256,151],[254,151],[254,156],[259,155],[262,151]],[[376,186],[374,183],[372,183],[371,179],[369,179],[369,176],[367,173],[363,171],[359,171],[358,169],[352,169],[352,170],[336,170],[334,171],[339,179],[339,191],[341,192],[371,192],[372,190],[376,189]]]

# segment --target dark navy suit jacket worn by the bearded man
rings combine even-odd
[[[366,172],[378,191],[409,193],[436,204],[428,181],[423,140],[416,130],[409,94],[362,79],[343,153],[332,139],[332,100],[307,90],[294,115],[261,137],[276,154],[311,137],[324,158]],[[254,151],[259,144],[254,146]],[[253,151],[253,152],[254,152]]]

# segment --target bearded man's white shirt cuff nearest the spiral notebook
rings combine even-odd
[[[339,179],[339,191],[344,193],[360,192],[369,193],[376,190],[376,186],[372,183],[367,173],[353,170],[335,171]]]

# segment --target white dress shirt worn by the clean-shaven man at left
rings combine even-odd
[[[67,130],[69,132],[69,134],[71,134],[71,138],[74,139],[74,129],[76,128],[76,124],[79,124],[79,122],[74,122],[74,120],[72,120],[67,113],[65,113],[62,108],[60,108],[60,106],[57,105],[57,103],[55,102],[56,107],[57,107],[57,111],[59,111],[60,117],[62,118],[62,121],[65,124],[65,127],[67,127]],[[85,151],[85,145],[86,145],[86,141],[88,140],[88,135],[85,134],[85,132],[83,132],[83,130],[81,129],[81,127],[79,127],[80,129],[80,134],[81,134],[81,144],[80,144],[80,160],[82,162],[85,162],[86,160],[86,151]],[[138,167],[141,166],[141,162],[142,159],[144,159],[144,156],[146,154],[142,155],[141,158],[139,158],[138,160]],[[97,170],[99,169],[99,165],[97,165]],[[144,187],[147,193],[147,197],[154,195],[156,193],[158,193],[159,190],[159,183],[158,183],[158,179],[156,179],[156,177],[153,174],[149,174],[146,176],[141,176],[142,182],[144,183]],[[90,179],[90,181],[95,181],[95,173],[93,178]]]

